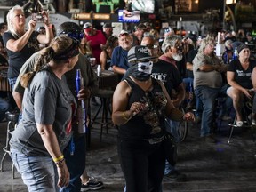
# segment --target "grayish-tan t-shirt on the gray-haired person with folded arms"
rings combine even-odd
[[[222,85],[222,76],[220,72],[216,70],[209,72],[200,71],[199,68],[204,64],[221,65],[220,60],[215,56],[210,57],[204,53],[196,54],[196,57],[193,60],[194,88],[197,86],[220,88]]]

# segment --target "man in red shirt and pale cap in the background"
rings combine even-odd
[[[84,23],[84,43],[89,42],[92,48],[92,57],[96,58],[96,63],[100,63],[100,52],[106,44],[106,37],[101,30],[92,27],[90,22]]]

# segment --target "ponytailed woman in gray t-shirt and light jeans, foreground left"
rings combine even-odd
[[[63,75],[78,60],[78,44],[68,36],[55,37],[40,52],[34,71],[21,78],[26,87],[22,119],[12,132],[10,146],[12,161],[29,191],[59,191],[58,187],[68,185],[62,150],[72,135],[76,100]]]

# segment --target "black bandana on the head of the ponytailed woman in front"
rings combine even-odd
[[[54,54],[54,60],[68,60],[79,54],[79,42],[76,39],[72,39],[72,44],[68,47],[67,50],[61,52],[59,55]]]

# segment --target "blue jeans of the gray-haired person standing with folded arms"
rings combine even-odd
[[[221,88],[211,88],[207,86],[196,87],[196,97],[202,100],[204,104],[200,133],[201,137],[205,137],[211,134],[212,124],[214,122],[215,101],[220,94],[226,94],[227,87],[227,85],[224,85]]]

